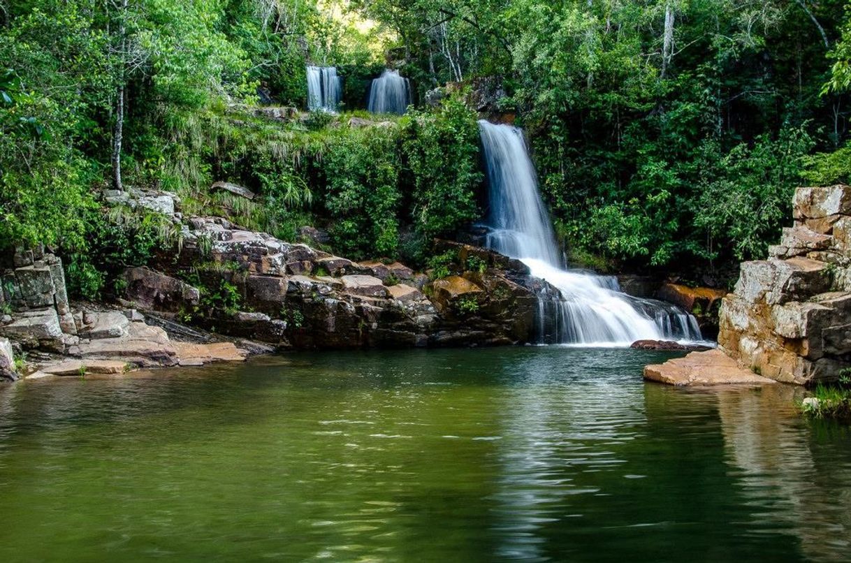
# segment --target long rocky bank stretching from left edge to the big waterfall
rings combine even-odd
[[[61,260],[20,249],[0,271],[3,377],[21,372],[15,351],[31,377],[43,377],[243,360],[253,351],[519,344],[534,338],[536,295],[554,291],[523,263],[457,242],[436,242],[453,257],[439,275],[417,273],[222,218],[184,218],[168,192],[108,191],[105,200],[167,215],[182,230],[180,248],[123,271],[109,305],[69,302]]]

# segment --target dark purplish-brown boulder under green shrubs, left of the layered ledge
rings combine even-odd
[[[142,310],[177,311],[201,299],[196,287],[149,268],[124,270],[123,279],[127,282],[124,295]]]

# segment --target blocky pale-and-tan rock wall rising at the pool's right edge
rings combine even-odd
[[[798,188],[768,260],[741,264],[718,344],[755,372],[810,384],[851,366],[851,187]]]

